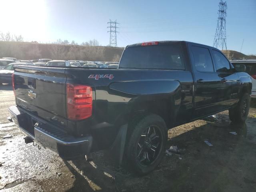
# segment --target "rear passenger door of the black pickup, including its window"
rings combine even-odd
[[[208,46],[188,44],[195,77],[194,118],[220,110],[220,77]]]

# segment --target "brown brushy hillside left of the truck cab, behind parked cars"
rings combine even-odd
[[[118,62],[123,50],[119,47],[0,41],[0,58],[14,57],[20,60],[49,58]]]

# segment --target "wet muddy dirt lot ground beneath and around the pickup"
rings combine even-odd
[[[94,153],[90,163],[64,162],[25,144],[24,135],[6,119],[14,104],[12,88],[0,86],[0,191],[256,191],[256,104],[243,125],[230,123],[225,111],[169,130],[168,147],[177,146],[181,154],[165,156],[143,177],[114,166],[108,152]],[[12,137],[3,138],[8,134]]]

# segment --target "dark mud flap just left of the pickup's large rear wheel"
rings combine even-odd
[[[116,164],[121,165],[124,154],[128,124],[122,125],[118,131],[116,139],[110,148],[110,153]]]

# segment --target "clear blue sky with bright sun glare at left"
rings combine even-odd
[[[220,0],[0,0],[0,32],[25,41],[96,39],[109,44],[107,22],[117,20],[117,44],[187,40],[213,45]],[[228,50],[256,54],[256,0],[227,0]]]

